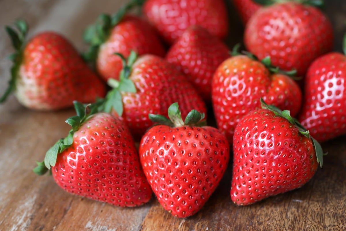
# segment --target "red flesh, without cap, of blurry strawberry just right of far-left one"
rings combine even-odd
[[[122,60],[114,53],[127,58],[131,51],[138,55],[165,55],[165,49],[154,28],[142,18],[126,15],[112,28],[109,38],[100,46],[96,66],[101,77],[106,81],[119,80]]]

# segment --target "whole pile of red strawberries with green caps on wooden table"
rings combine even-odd
[[[85,29],[85,52],[55,32],[26,41],[18,20],[0,102],[74,106],[70,132],[34,168],[69,193],[123,207],[154,193],[184,218],[233,167],[229,199],[250,205],[302,187],[323,165],[318,142],[346,134],[346,56],[332,52],[320,3],[234,0],[242,52],[225,43],[222,0],[130,0]]]

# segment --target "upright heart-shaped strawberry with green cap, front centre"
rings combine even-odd
[[[197,213],[225,173],[229,160],[226,137],[216,128],[198,127],[197,110],[185,122],[177,103],[168,109],[171,120],[150,115],[157,125],[143,136],[140,162],[158,201],[177,217]]]

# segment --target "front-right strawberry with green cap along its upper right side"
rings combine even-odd
[[[289,111],[265,105],[238,123],[233,143],[231,199],[249,205],[306,184],[323,152]]]

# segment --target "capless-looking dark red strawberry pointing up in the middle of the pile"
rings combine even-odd
[[[166,60],[195,86],[204,100],[211,100],[211,82],[217,67],[229,57],[228,47],[200,26],[192,26],[175,42]]]

